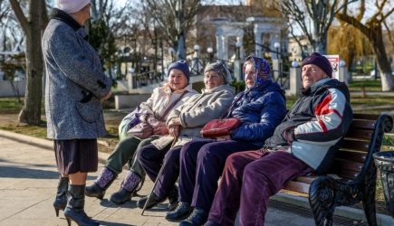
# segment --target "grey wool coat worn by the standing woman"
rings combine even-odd
[[[106,135],[101,98],[111,90],[99,55],[84,39],[85,29],[55,11],[43,33],[46,69],[45,114],[52,139],[94,139]]]

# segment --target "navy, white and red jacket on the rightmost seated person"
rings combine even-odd
[[[289,146],[293,156],[311,166],[317,173],[326,173],[341,139],[351,126],[350,93],[346,84],[323,79],[303,90],[274,136],[265,148]]]

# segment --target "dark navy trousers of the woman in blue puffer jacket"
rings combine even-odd
[[[187,143],[180,151],[179,201],[209,212],[227,156],[257,148],[251,142],[235,140]]]

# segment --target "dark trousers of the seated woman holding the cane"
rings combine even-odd
[[[143,146],[137,151],[137,159],[139,164],[148,174],[150,180],[153,182],[158,178],[153,193],[164,199],[174,187],[179,175],[179,152],[181,146],[175,146],[169,149],[166,146],[164,149],[159,150],[156,146],[149,145]],[[163,167],[161,174],[160,168]]]

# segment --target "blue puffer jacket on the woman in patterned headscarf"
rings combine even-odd
[[[235,96],[225,118],[241,119],[241,126],[231,134],[231,139],[251,141],[263,146],[266,138],[274,134],[286,115],[283,90],[272,80],[261,87],[246,89]]]

